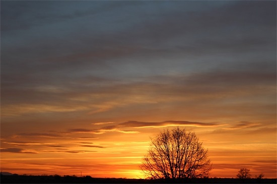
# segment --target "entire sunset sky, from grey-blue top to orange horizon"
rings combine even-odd
[[[175,126],[277,177],[276,1],[1,1],[1,171],[144,177]]]

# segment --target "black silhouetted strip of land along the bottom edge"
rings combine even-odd
[[[126,179],[95,178],[75,175],[1,175],[0,183],[276,183],[276,179],[194,178],[194,179]]]

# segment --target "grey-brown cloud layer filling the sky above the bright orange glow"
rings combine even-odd
[[[13,131],[9,123],[23,124],[23,115],[26,126],[49,127],[160,117],[103,128],[136,133],[120,129],[217,126],[160,122],[174,119],[165,114],[184,119],[195,113],[211,122],[276,114],[274,1],[4,1],[1,31],[4,134]],[[244,126],[250,124],[232,128]]]

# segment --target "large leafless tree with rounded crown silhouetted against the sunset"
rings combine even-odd
[[[151,138],[141,169],[153,179],[206,177],[212,169],[207,152],[194,132],[167,129]]]

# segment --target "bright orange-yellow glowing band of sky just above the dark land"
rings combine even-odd
[[[207,124],[209,125],[209,123]],[[275,178],[274,141],[239,143],[238,140],[240,140],[240,137],[243,138],[243,135],[236,135],[236,140],[233,141],[228,139],[224,140],[223,138],[221,141],[217,141],[218,137],[215,134],[220,136],[222,134],[220,131],[224,131],[224,134],[228,133],[230,136],[237,134],[237,132],[232,134],[232,129],[230,130],[226,127],[230,127],[230,125],[223,125],[218,130],[214,130],[213,126],[208,126],[208,128],[199,128],[197,126],[193,128],[191,126],[186,127],[187,130],[189,128],[194,129],[194,132],[197,135],[199,134],[198,137],[203,142],[204,147],[209,149],[209,157],[212,159],[214,165],[210,176],[235,177],[239,168],[247,167],[251,170],[253,176],[262,172],[267,178]],[[245,129],[242,125],[241,127],[241,129]],[[255,125],[255,127],[252,127],[250,132],[255,131],[257,127],[259,126]],[[140,134],[148,134],[151,137],[163,130],[163,128],[143,129],[151,133],[141,132]],[[203,133],[202,131],[212,132]],[[118,137],[117,141],[113,141],[113,139],[102,140],[105,139],[104,134],[111,133],[113,137]],[[2,147],[3,145],[7,145],[5,147],[23,146],[26,149],[9,150],[9,148],[6,148],[5,150],[5,148],[2,148],[2,171],[18,174],[77,176],[82,171],[83,175],[91,175],[93,177],[143,178],[143,173],[138,166],[141,164],[142,157],[147,153],[150,144],[148,136],[140,136],[140,140],[137,141],[137,134],[124,134],[122,131],[107,131],[103,134],[93,134],[103,136],[98,137],[98,139],[95,139],[95,137],[92,140],[74,139],[74,136],[80,137],[80,134],[85,134],[83,137],[89,137],[91,135],[91,133],[68,133],[66,131],[55,132],[50,138],[43,137],[45,135],[50,136],[44,133],[30,133],[28,135],[31,138],[41,136],[40,141],[27,141],[27,139],[30,139],[27,134],[14,135],[14,137],[21,141],[3,141]],[[49,139],[52,141],[49,141]],[[263,153],[265,149],[266,154]],[[5,154],[6,151],[7,153]],[[261,155],[260,153],[263,154]],[[56,163],[57,160],[58,163]]]

